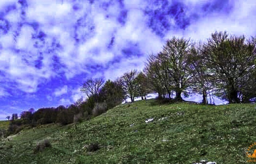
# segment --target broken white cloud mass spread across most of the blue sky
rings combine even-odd
[[[1,11],[5,11],[4,7],[9,4],[15,4],[17,9],[3,16],[11,26],[6,34],[0,35],[0,72],[5,76],[0,81],[15,84],[17,87],[15,89],[27,93],[37,93],[39,84],[50,82],[53,77],[59,76],[59,70],[53,67],[53,55],[58,56],[61,64],[64,65],[60,70],[64,72],[67,81],[78,74],[86,74],[87,77],[103,76],[105,79],[114,80],[126,71],[142,70],[148,54],[160,51],[165,40],[173,36],[205,41],[216,30],[226,30],[236,35],[256,34],[255,0],[234,1],[234,7],[228,14],[212,12],[204,16],[199,13],[197,7],[206,3],[206,0],[185,0],[189,7],[189,11],[186,12],[197,13],[199,19],[192,21],[185,30],[171,28],[164,38],[156,35],[148,27],[148,18],[143,12],[146,7],[159,8],[159,6],[153,6],[153,3],[149,4],[144,0],[124,0],[124,8],[128,9],[127,18],[125,24],[120,24],[117,19],[121,11],[119,4],[111,3],[105,11],[100,8],[101,2],[95,0],[91,5],[89,1],[63,0],[62,4],[61,0],[27,0],[28,7],[24,8],[26,16],[21,16],[22,8],[17,0],[1,0]],[[73,11],[74,3],[81,9]],[[79,19],[84,19],[84,22],[82,21],[84,24],[80,28],[77,27]],[[170,21],[174,22],[173,19]],[[37,30],[29,25],[32,22],[38,22]],[[46,34],[44,41],[31,39],[31,35],[39,31]],[[76,33],[81,35],[77,36],[80,39],[79,43],[75,40]],[[107,46],[113,36],[113,46],[109,49]],[[61,47],[49,52],[54,39]],[[41,47],[34,47],[35,42]],[[131,54],[128,58],[124,56],[122,50],[128,48],[131,43],[137,44],[141,54],[139,56]],[[35,67],[35,60],[40,56],[39,52],[42,52],[40,69]],[[104,69],[94,72],[91,71],[91,65],[100,65]],[[7,95],[7,89],[8,85],[2,87],[0,96]],[[67,93],[67,86],[53,92],[53,95],[61,96]],[[76,101],[82,95],[79,89],[71,92],[70,100],[62,99],[62,102]],[[49,101],[52,99],[47,98]]]

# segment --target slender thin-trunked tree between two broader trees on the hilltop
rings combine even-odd
[[[203,44],[193,44],[187,56],[188,73],[191,76],[189,88],[193,93],[203,95],[203,104],[208,104],[207,91],[209,91],[210,82],[207,74],[206,56],[204,55]]]

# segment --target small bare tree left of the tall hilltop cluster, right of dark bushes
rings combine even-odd
[[[119,79],[119,84],[123,86],[126,96],[131,99],[131,102],[134,102],[134,98],[138,96],[138,83],[136,81],[137,76],[138,71],[132,70],[130,72],[125,73]]]

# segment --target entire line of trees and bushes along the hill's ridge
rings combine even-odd
[[[182,101],[181,95],[202,94],[202,103],[215,95],[229,103],[246,103],[256,97],[256,37],[228,36],[215,32],[206,43],[187,39],[167,40],[158,54],[151,54],[142,72],[132,70],[115,81],[87,79],[81,91],[86,101],[57,108],[24,111],[7,117],[10,131],[17,125],[63,125],[97,116],[120,104],[124,99],[146,99],[149,93],[158,98]]]

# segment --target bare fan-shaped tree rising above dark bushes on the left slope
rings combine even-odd
[[[83,83],[83,87],[81,91],[86,94],[87,99],[90,102],[91,108],[93,108],[95,102],[97,102],[99,89],[103,84],[104,84],[104,80],[102,78],[95,78],[95,79],[90,78]]]

